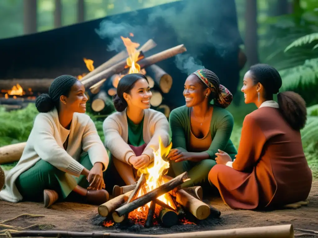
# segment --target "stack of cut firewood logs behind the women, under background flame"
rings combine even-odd
[[[155,55],[144,57],[144,53],[154,47],[156,47],[156,43],[153,40],[149,40],[141,46],[138,49],[140,54],[137,63],[141,66],[140,73],[146,75],[149,81],[152,91],[151,106],[169,117],[170,108],[168,105],[162,105],[162,99],[172,87],[172,77],[156,63],[183,53],[186,48],[183,45],[178,45]],[[128,73],[127,57],[127,51],[123,50],[81,78],[86,90],[91,93],[90,104],[94,112],[102,112],[112,104],[111,97],[116,94],[119,80]]]

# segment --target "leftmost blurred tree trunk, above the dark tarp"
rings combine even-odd
[[[37,32],[37,0],[24,0],[24,34]]]

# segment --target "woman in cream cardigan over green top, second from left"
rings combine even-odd
[[[170,142],[168,120],[161,112],[150,109],[151,96],[144,75],[122,77],[113,98],[117,112],[103,123],[109,157],[127,185],[135,183],[137,169],[153,162],[153,148],[158,149],[159,137],[164,146]]]

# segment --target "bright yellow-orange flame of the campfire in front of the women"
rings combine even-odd
[[[138,170],[138,174],[144,173],[146,174],[146,182],[139,189],[137,197],[140,197],[155,188],[158,188],[162,184],[164,184],[164,180],[162,175],[164,175],[169,169],[169,161],[165,161],[162,157],[166,157],[169,154],[170,149],[172,148],[172,143],[168,145],[168,147],[164,147],[161,138],[159,137],[159,149],[154,149],[154,163],[153,166],[142,168]],[[165,193],[158,197],[158,199],[170,207],[176,209],[176,205],[174,204],[169,193]],[[143,207],[137,208],[138,212],[147,211],[150,207],[150,202],[147,203]]]

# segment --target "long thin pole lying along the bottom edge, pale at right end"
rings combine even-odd
[[[2,234],[1,234],[2,235]],[[69,232],[69,231],[18,231],[10,232],[12,237],[122,237],[122,238],[293,238],[294,230],[293,225],[280,225],[280,226],[266,226],[266,227],[251,227],[251,228],[236,228],[227,230],[210,230],[210,231],[197,231],[185,232],[164,235],[139,235],[132,233],[99,233],[99,232]]]

